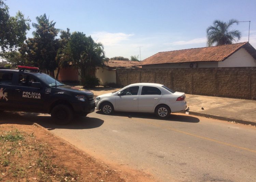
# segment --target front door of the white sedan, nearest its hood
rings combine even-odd
[[[139,86],[128,87],[116,96],[115,110],[117,111],[138,111]]]

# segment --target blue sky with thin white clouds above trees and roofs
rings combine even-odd
[[[250,43],[256,48],[255,0],[7,0],[11,16],[21,11],[36,22],[46,13],[56,28],[91,35],[104,44],[107,57],[139,55],[206,46],[206,29],[215,19],[251,21]],[[248,41],[249,23],[233,25]],[[32,31],[27,37],[32,37]],[[140,58],[139,58],[140,59]]]

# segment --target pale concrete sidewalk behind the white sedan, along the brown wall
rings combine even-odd
[[[119,89],[97,87],[91,91],[98,96],[117,90]],[[186,101],[189,114],[256,125],[256,101],[191,94],[186,94]]]

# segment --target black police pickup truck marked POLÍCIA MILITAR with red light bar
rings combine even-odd
[[[1,111],[50,113],[56,124],[65,125],[74,115],[86,116],[94,109],[93,92],[67,86],[39,68],[0,68]]]

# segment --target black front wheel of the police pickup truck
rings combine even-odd
[[[52,109],[51,116],[57,125],[67,125],[74,116],[72,108],[59,104]]]

